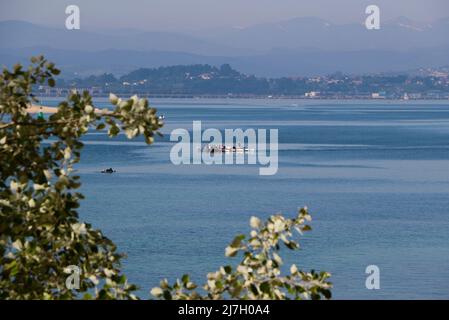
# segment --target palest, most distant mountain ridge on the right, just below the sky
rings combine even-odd
[[[273,49],[404,51],[449,45],[449,18],[425,24],[399,17],[382,22],[380,30],[367,30],[364,21],[337,25],[315,17],[302,17],[248,28],[205,30],[196,35],[260,52]]]

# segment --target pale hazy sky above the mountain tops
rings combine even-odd
[[[82,27],[88,29],[189,31],[302,16],[362,22],[370,4],[378,5],[386,20],[406,16],[431,22],[449,16],[448,0],[0,0],[0,20],[64,27],[70,4],[80,7]]]

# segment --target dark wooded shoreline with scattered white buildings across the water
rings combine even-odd
[[[240,73],[229,65],[140,68],[112,74],[65,79],[57,87],[38,86],[36,94],[65,96],[71,90],[96,97],[110,92],[156,98],[295,98],[295,99],[449,99],[449,67],[409,72],[264,78]]]

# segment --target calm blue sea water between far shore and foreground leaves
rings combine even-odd
[[[123,269],[143,298],[162,278],[202,281],[228,263],[224,248],[252,215],[294,216],[305,205],[313,231],[286,263],[330,271],[334,298],[449,298],[449,102],[152,103],[166,116],[163,139],[148,147],[92,133],[77,167],[82,219],[127,253]],[[193,120],[279,129],[278,173],[174,166],[169,133]],[[118,172],[100,174],[106,167]],[[365,288],[371,264],[380,290]]]

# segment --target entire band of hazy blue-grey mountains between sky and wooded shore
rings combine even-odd
[[[257,76],[394,72],[449,64],[449,18],[421,24],[407,18],[381,30],[296,18],[195,34],[126,30],[68,31],[22,21],[0,22],[0,64],[45,54],[73,78],[138,67],[231,64]]]

